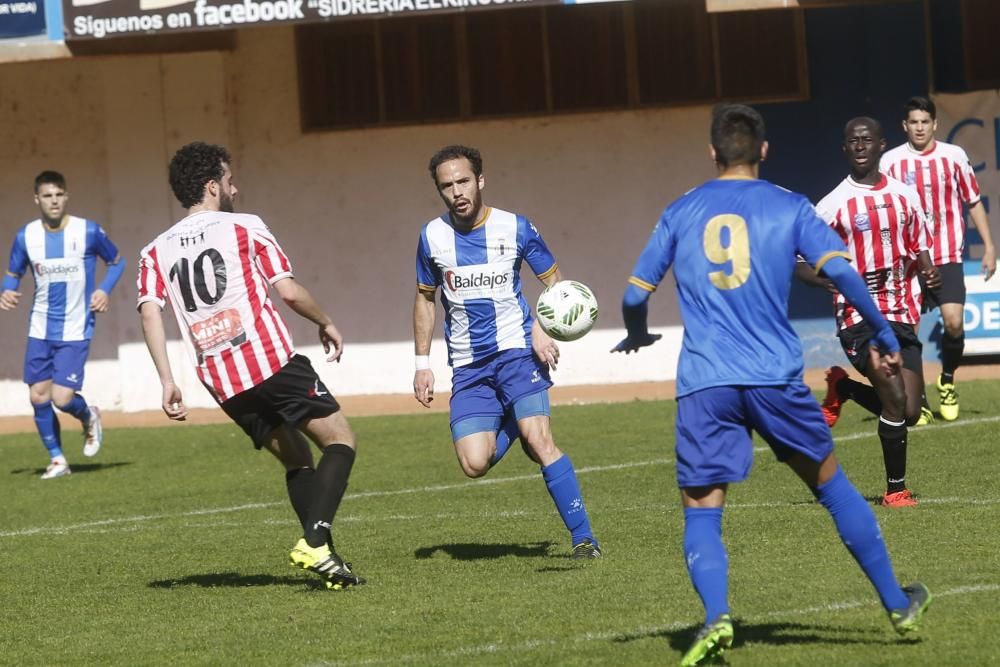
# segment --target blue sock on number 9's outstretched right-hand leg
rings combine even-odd
[[[820,504],[833,517],[844,546],[878,592],[882,606],[887,610],[906,608],[909,600],[892,571],[892,561],[882,541],[882,531],[875,514],[851,480],[847,479],[843,469],[838,467],[833,478],[818,486],[815,493]]]

